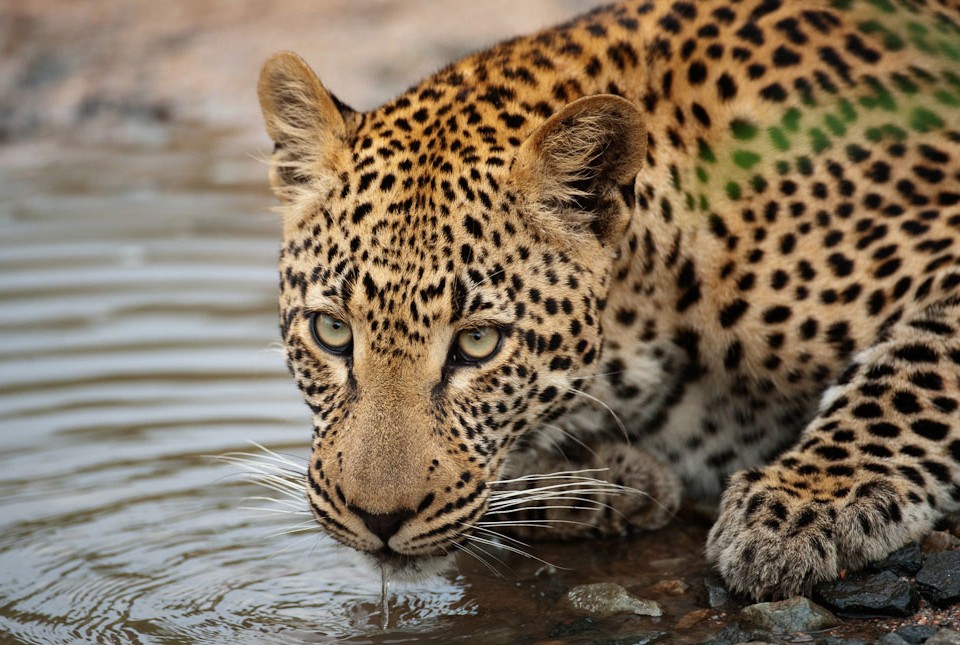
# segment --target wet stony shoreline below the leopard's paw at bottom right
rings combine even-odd
[[[659,617],[663,609],[655,600],[618,584],[578,585],[558,605],[579,618],[557,626],[551,633],[557,640],[541,643],[960,643],[960,539],[949,531],[932,533],[922,544],[904,546],[863,571],[820,583],[812,590],[812,599],[748,604],[734,598],[713,576],[703,578],[699,586],[667,579],[650,590],[668,595],[695,593],[702,608],[679,617],[673,629],[645,625],[624,636],[591,641],[589,634],[602,630],[602,622],[612,616]],[[718,629],[706,640],[685,638],[683,631],[698,623],[712,623]]]

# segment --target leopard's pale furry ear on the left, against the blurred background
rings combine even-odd
[[[274,54],[264,63],[257,95],[275,144],[270,184],[281,200],[289,200],[303,184],[330,174],[331,161],[345,149],[358,115],[292,52]]]

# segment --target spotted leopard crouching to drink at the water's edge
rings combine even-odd
[[[274,55],[319,527],[429,575],[504,491],[600,473],[529,531],[713,504],[706,557],[757,600],[931,531],[960,507],[958,60],[956,0],[627,0],[369,111]]]

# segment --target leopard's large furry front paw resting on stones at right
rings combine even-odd
[[[882,558],[933,523],[925,502],[911,501],[893,479],[796,483],[777,466],[731,479],[707,557],[732,590],[755,599],[809,594],[817,582]]]

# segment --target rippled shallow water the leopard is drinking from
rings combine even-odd
[[[310,432],[276,349],[265,171],[224,141],[0,150],[0,639],[591,642],[698,607],[703,528],[675,526],[536,549],[568,569],[462,562],[394,588],[382,631],[378,572],[286,533],[308,516],[250,510],[265,491],[212,457],[255,441],[303,459]],[[649,589],[675,577],[691,591]],[[666,616],[555,608],[607,580]]]

